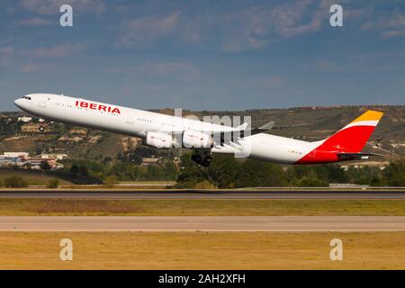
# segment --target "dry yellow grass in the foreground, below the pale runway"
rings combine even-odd
[[[73,241],[73,261],[59,241]],[[329,242],[343,241],[343,261]],[[405,232],[0,232],[0,269],[404,269]]]

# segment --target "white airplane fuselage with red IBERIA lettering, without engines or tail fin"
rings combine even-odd
[[[188,132],[190,137],[193,137],[193,133],[195,133],[198,137],[218,131],[237,130],[211,122],[98,103],[59,94],[28,94],[14,103],[24,112],[49,121],[106,130],[142,139],[146,139],[148,133],[157,133],[154,134],[157,135],[157,138],[162,135],[166,139],[166,135],[173,133]],[[248,157],[284,164],[338,161],[336,156],[336,152],[339,152],[338,148],[334,151],[319,150],[317,156],[317,148],[320,148],[324,141],[307,142],[258,133],[239,139],[238,144],[235,145],[213,143],[211,152],[235,154],[246,151]],[[325,152],[328,152],[328,155]]]

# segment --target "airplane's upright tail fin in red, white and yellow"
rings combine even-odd
[[[336,152],[360,152],[383,117],[383,112],[368,110],[324,140],[317,149]]]

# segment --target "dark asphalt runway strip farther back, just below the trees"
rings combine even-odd
[[[405,191],[16,191],[2,190],[0,198],[67,199],[405,199]]]

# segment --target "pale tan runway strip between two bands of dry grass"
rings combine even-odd
[[[0,231],[405,231],[405,216],[2,216]]]

